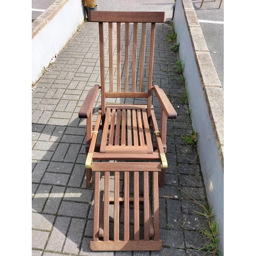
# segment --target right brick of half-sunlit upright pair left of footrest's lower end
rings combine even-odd
[[[85,224],[85,220],[72,219],[63,252],[78,253]]]

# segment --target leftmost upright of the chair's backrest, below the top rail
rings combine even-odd
[[[105,116],[105,64],[104,64],[103,22],[99,22],[99,54],[100,54],[100,82],[101,82],[101,115]]]

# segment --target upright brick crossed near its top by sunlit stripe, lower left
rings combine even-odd
[[[43,211],[45,214],[57,214],[65,189],[65,186],[53,186]]]

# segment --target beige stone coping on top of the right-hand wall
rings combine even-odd
[[[181,0],[209,117],[224,171],[224,91],[191,0]]]

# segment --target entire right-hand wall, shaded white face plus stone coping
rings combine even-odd
[[[174,24],[206,195],[219,221],[224,252],[223,89],[191,0],[176,1]]]

